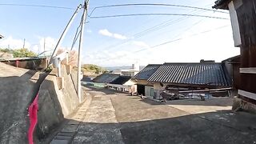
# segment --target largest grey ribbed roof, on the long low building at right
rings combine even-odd
[[[148,81],[230,86],[221,63],[165,63],[152,74]]]

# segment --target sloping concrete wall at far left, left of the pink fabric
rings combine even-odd
[[[0,62],[0,143],[28,143],[28,106],[46,74]]]

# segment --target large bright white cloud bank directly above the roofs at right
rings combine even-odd
[[[166,32],[161,37],[147,37],[145,42],[129,37],[131,41],[119,49],[90,53],[86,62],[100,66],[130,66],[134,62],[146,66],[149,63],[199,62],[200,59],[221,62],[240,53],[239,48],[234,47],[231,26],[223,27],[226,25],[230,25],[230,22],[220,22],[214,26],[211,21],[204,22],[191,30],[177,31],[171,37]],[[150,42],[150,45],[146,42]],[[169,43],[150,48],[164,42]],[[138,50],[142,51],[135,52]]]

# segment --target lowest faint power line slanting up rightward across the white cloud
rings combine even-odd
[[[205,30],[205,31],[202,31],[202,32],[197,33],[197,34],[191,34],[189,37],[186,37],[186,38],[191,38],[191,37],[194,37],[194,36],[199,35],[199,34],[209,33],[210,31],[219,30],[219,29],[225,28],[225,27],[227,27],[227,26],[228,26],[228,25],[226,25],[226,26],[219,26],[219,27],[217,27],[217,28],[215,28],[215,29]],[[142,52],[142,51],[144,51],[144,50],[151,50],[151,49],[157,48],[157,47],[159,47],[159,46],[163,46],[163,45],[166,45],[166,44],[169,44],[169,43],[172,43],[172,42],[180,41],[180,40],[182,40],[182,39],[185,39],[185,38],[177,38],[177,39],[170,40],[170,41],[167,41],[167,42],[162,42],[162,43],[160,43],[160,44],[158,44],[158,45],[150,46],[150,48],[144,48],[144,49],[141,49],[141,50],[133,51],[133,52],[130,53],[130,54]],[[126,57],[126,56],[128,56],[128,55],[129,55],[129,54],[123,54],[123,55],[121,55],[121,56],[119,56],[119,57],[116,57],[116,58],[123,58],[123,57]],[[108,58],[108,59],[106,59],[106,61],[109,61],[109,60],[111,60],[111,59],[116,59],[116,58]]]

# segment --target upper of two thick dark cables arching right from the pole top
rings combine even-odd
[[[183,5],[174,5],[174,4],[165,4],[165,3],[130,3],[130,4],[109,5],[109,6],[96,6],[90,12],[89,17],[91,16],[91,14],[94,13],[96,9],[108,8],[108,7],[120,7],[120,6],[176,6],[176,7],[183,7],[183,8],[197,9],[197,10],[208,10],[208,11],[214,11],[214,12],[223,13],[223,14],[229,14],[225,11],[206,9],[206,8],[196,7],[196,6],[183,6]]]

